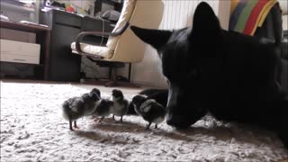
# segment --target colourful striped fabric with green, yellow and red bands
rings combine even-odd
[[[229,30],[254,35],[277,0],[232,0]]]

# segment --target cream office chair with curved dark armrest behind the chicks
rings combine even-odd
[[[145,43],[130,30],[129,25],[157,29],[162,21],[164,4],[161,0],[125,0],[119,21],[112,33],[102,31],[84,31],[71,44],[73,53],[83,55],[94,61],[106,63],[129,63],[129,80],[131,63],[139,62],[144,57]],[[106,46],[83,43],[87,35],[109,36]],[[111,76],[112,77],[112,76]],[[114,79],[114,78],[113,78]],[[115,82],[112,82],[113,85]]]

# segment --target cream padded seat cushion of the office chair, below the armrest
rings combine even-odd
[[[99,55],[102,56],[103,58],[112,58],[113,55],[113,50],[109,49],[107,47],[103,46],[94,46],[91,44],[86,44],[86,43],[80,43],[80,48],[83,52],[89,54],[89,55]],[[73,51],[76,51],[76,43],[73,42],[71,44],[71,49]]]

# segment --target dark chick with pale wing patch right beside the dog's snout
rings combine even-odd
[[[145,121],[148,121],[146,130],[152,123],[155,123],[155,129],[157,129],[157,124],[166,118],[166,108],[154,99],[148,99],[144,95],[136,95],[133,97],[132,103],[134,103],[135,112],[142,116]]]

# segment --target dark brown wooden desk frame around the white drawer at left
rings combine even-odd
[[[40,64],[36,66],[36,77],[40,79],[48,78],[49,70],[49,42],[50,42],[50,29],[48,27],[28,24],[28,23],[14,23],[1,21],[1,28],[11,29],[15,31],[27,31],[36,33],[36,43],[40,44]]]

